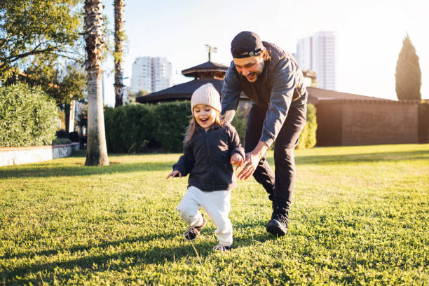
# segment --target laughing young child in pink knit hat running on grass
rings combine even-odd
[[[184,233],[186,240],[200,236],[206,220],[199,208],[203,207],[216,226],[219,240],[213,250],[231,250],[232,225],[229,220],[231,189],[236,187],[232,165],[244,161],[244,149],[236,129],[220,118],[219,93],[207,83],[191,97],[192,119],[184,139],[184,152],[167,176],[182,177],[189,174],[188,189],[177,211],[189,225]]]

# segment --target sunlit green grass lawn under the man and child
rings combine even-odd
[[[0,285],[429,285],[429,144],[296,151],[287,236],[254,179],[231,198],[233,250],[193,243],[179,154],[85,154],[0,168]],[[273,154],[269,153],[273,164]]]

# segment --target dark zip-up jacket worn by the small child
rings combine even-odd
[[[201,191],[233,189],[237,185],[230,163],[233,154],[245,158],[233,125],[214,123],[205,131],[197,124],[193,137],[184,142],[183,155],[173,165],[173,170],[178,170],[182,176],[189,174],[189,186],[196,186]]]

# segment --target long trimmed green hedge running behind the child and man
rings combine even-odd
[[[244,144],[247,116],[243,112],[238,110],[232,124]],[[160,145],[162,151],[182,152],[191,116],[189,101],[105,107],[107,149],[111,153],[136,153],[154,143]],[[297,148],[315,146],[316,128],[315,107],[308,104],[307,123]]]

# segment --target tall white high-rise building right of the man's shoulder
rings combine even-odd
[[[315,71],[318,88],[336,90],[336,48],[335,32],[320,31],[298,40],[297,61],[302,70]]]

